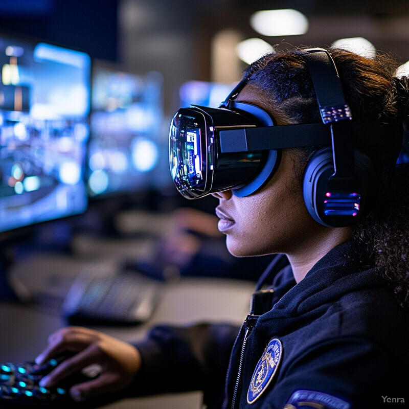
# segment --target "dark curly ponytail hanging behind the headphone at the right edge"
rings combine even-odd
[[[409,309],[409,77],[394,77],[395,121],[403,124],[402,151],[377,207],[355,230],[376,266],[394,289],[399,304]]]

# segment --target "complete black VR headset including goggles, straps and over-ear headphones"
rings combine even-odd
[[[184,197],[230,189],[235,196],[251,195],[274,174],[283,148],[320,146],[304,175],[303,195],[310,215],[327,226],[347,226],[369,212],[374,168],[358,147],[401,146],[402,126],[353,121],[330,54],[324,49],[304,51],[321,123],[277,126],[260,107],[236,102],[254,72],[219,108],[192,105],[176,112],[169,160],[174,184]]]

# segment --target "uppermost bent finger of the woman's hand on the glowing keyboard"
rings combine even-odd
[[[36,357],[38,365],[64,351],[81,351],[95,339],[95,333],[82,327],[63,328],[49,336],[46,348]]]

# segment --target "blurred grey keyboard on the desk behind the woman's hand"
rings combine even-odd
[[[72,324],[132,325],[147,321],[161,297],[164,283],[138,271],[101,274],[81,272],[61,307]]]

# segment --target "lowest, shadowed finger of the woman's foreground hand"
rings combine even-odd
[[[70,394],[74,400],[82,401],[94,396],[118,391],[122,389],[122,387],[123,385],[117,374],[104,373],[98,378],[74,385],[70,389]]]

